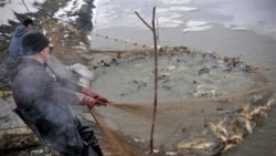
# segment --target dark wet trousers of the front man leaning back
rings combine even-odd
[[[93,129],[73,116],[67,106],[40,100],[14,111],[43,144],[60,154],[103,156]]]

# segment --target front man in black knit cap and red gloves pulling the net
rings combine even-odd
[[[64,156],[102,156],[91,127],[76,118],[70,106],[106,105],[108,100],[96,92],[62,79],[47,65],[49,39],[30,31],[22,38],[23,56],[10,66],[17,113],[39,138]]]

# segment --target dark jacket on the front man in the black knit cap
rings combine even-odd
[[[25,107],[39,98],[60,105],[78,103],[75,92],[81,92],[82,86],[60,76],[54,80],[46,71],[46,64],[20,58],[9,71],[13,98],[19,107]]]

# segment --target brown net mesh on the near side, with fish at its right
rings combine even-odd
[[[188,49],[182,50],[191,53],[187,52]],[[172,54],[171,51],[163,53]],[[152,56],[152,51],[110,55],[128,58],[127,62],[131,62],[137,55]],[[241,66],[246,65],[237,67]],[[275,86],[269,86],[257,70],[250,70],[254,83],[244,91],[211,97],[158,101],[152,155],[216,155],[241,144],[258,126],[259,118],[268,116],[275,103]],[[92,114],[103,131],[109,155],[149,155],[153,100],[112,102],[107,107],[96,107]]]

